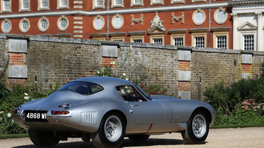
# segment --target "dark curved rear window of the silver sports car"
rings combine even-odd
[[[59,90],[70,90],[83,95],[95,94],[103,90],[102,86],[89,82],[72,82],[63,85]]]

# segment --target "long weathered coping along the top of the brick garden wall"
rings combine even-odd
[[[150,48],[150,49],[168,49],[168,50],[191,50],[192,52],[208,52],[208,53],[222,53],[222,54],[253,54],[256,56],[264,56],[264,51],[244,51],[237,49],[217,49],[208,47],[188,47],[188,46],[174,46],[170,44],[150,44],[150,43],[137,43],[137,42],[118,42],[118,41],[102,41],[102,40],[87,40],[77,38],[56,38],[49,36],[33,36],[33,35],[15,35],[15,34],[3,34],[0,33],[0,38],[27,38],[30,41],[39,42],[61,42],[71,44],[119,44],[119,47],[138,47],[138,48]]]

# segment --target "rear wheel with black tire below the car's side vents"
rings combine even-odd
[[[96,147],[119,147],[125,137],[125,118],[120,113],[108,113],[102,118],[97,132],[91,134]]]

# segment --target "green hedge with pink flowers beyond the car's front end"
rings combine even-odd
[[[206,101],[215,108],[213,125],[264,124],[264,78],[242,79],[206,88]]]

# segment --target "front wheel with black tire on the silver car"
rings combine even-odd
[[[209,132],[208,116],[203,110],[195,111],[189,118],[187,129],[182,131],[185,144],[203,144]]]

